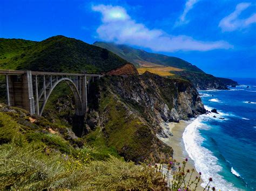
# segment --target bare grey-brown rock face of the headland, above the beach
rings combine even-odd
[[[185,80],[166,79],[146,72],[113,80],[111,89],[134,108],[142,108],[147,118],[178,122],[197,117],[204,105],[197,90]]]

